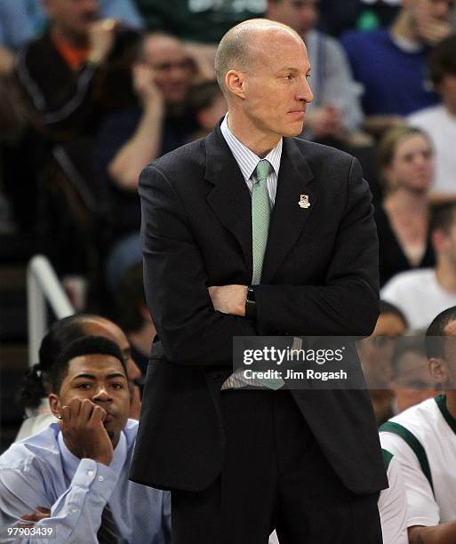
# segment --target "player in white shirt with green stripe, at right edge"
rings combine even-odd
[[[382,448],[401,464],[411,544],[456,541],[456,307],[426,333],[429,370],[445,389],[380,428]]]

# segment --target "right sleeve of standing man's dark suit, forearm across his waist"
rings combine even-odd
[[[345,211],[321,285],[255,286],[257,324],[263,334],[372,333],[379,312],[378,238],[371,192],[356,159],[347,187]]]

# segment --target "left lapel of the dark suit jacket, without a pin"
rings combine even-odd
[[[220,126],[206,138],[205,179],[214,185],[207,202],[225,228],[233,233],[252,277],[252,198]]]

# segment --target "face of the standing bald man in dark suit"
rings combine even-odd
[[[263,32],[260,37],[252,37],[251,65],[239,72],[241,113],[265,139],[297,136],[313,99],[306,46],[285,31]]]

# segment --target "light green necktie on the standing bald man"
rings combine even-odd
[[[261,269],[263,268],[264,253],[268,244],[269,218],[271,204],[268,191],[268,173],[270,164],[266,160],[260,161],[255,169],[256,183],[252,188],[252,254],[253,274],[252,284],[260,284]],[[261,385],[268,389],[279,389],[284,385],[284,380],[261,379]]]

